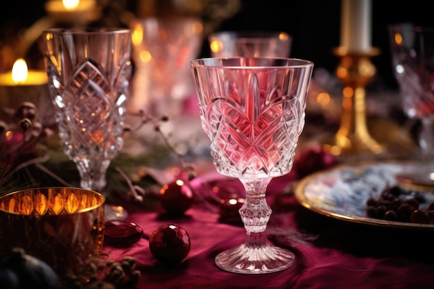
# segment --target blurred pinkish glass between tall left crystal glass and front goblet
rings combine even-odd
[[[189,64],[202,47],[202,22],[193,17],[132,19],[135,64],[129,111],[177,118],[194,96]]]

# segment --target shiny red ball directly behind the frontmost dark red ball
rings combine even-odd
[[[182,179],[177,179],[162,186],[159,200],[168,213],[182,215],[193,204],[193,191]]]

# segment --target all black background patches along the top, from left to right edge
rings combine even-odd
[[[123,7],[134,14],[140,0],[106,1],[112,2],[112,7]],[[19,33],[20,28],[30,27],[46,14],[45,1],[42,0],[7,3],[8,6],[3,5],[0,11],[0,45],[14,33]],[[315,68],[334,72],[338,58],[333,49],[340,41],[340,0],[240,0],[240,3],[236,15],[223,21],[216,30],[284,30],[293,37],[291,57],[311,60]],[[114,17],[117,13],[121,18],[119,11],[107,13]],[[372,46],[381,51],[380,55],[372,58],[377,68],[372,86],[378,89],[397,87],[391,71],[387,26],[401,21],[434,26],[431,1],[372,0]],[[204,37],[200,56],[208,55]]]

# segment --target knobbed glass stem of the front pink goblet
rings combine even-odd
[[[245,188],[245,202],[239,210],[247,231],[245,245],[261,247],[266,245],[263,231],[267,228],[272,212],[266,201],[266,189],[271,178],[240,180]]]

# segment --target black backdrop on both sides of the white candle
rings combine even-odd
[[[340,42],[340,0],[246,0],[243,8],[220,30],[285,30],[293,37],[291,57],[304,58],[334,72],[339,59],[333,49]],[[397,89],[390,63],[387,27],[397,22],[434,26],[431,1],[372,0],[372,46],[381,54],[372,58],[376,65],[375,89]]]

